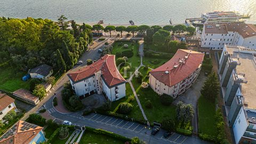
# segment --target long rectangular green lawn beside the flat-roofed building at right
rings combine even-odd
[[[198,100],[198,125],[199,133],[217,135],[215,127],[214,102],[204,98],[202,95]]]

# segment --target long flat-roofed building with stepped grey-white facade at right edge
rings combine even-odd
[[[256,142],[256,50],[225,45],[219,77],[227,121],[235,143]]]

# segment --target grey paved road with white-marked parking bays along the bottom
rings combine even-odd
[[[95,129],[114,132],[127,138],[139,137],[141,140],[146,141],[146,143],[209,143],[202,141],[198,137],[187,137],[178,133],[174,133],[165,139],[163,137],[164,130],[160,130],[156,135],[151,135],[152,127],[95,113],[87,116],[82,116],[82,111],[61,114],[53,108],[52,99],[45,103],[45,108],[50,115],[57,118],[58,122],[67,120],[77,126],[90,126]]]

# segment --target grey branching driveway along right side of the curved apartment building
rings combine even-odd
[[[206,76],[203,74],[203,71],[199,74],[196,79],[196,82],[188,89],[185,93],[180,95],[174,102],[174,105],[177,105],[179,101],[184,103],[191,103],[195,109],[195,115],[193,118],[193,132],[198,133],[198,113],[197,113],[197,101],[201,95],[201,88],[204,84]]]

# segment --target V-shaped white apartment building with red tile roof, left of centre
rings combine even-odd
[[[125,97],[126,81],[115,63],[115,55],[106,54],[92,65],[69,73],[68,77],[76,95],[83,99],[94,93],[103,93],[110,101]]]

